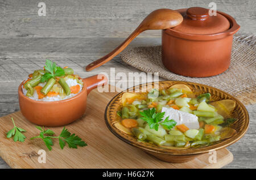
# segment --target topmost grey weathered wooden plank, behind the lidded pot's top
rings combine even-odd
[[[44,1],[46,16],[38,16],[38,2],[1,1],[0,37],[127,37],[157,8],[188,8],[208,3],[196,1]],[[232,15],[241,31],[255,34],[254,1],[214,1],[217,10]],[[250,7],[250,8],[248,8]],[[242,15],[241,15],[242,14]],[[112,25],[109,25],[112,24]],[[144,36],[158,36],[149,31]]]

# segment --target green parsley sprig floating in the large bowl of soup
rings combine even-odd
[[[155,108],[146,109],[143,110],[143,112],[139,113],[142,115],[141,119],[146,121],[148,123],[148,126],[156,131],[158,131],[159,125],[162,125],[163,127],[170,130],[172,127],[176,126],[177,123],[176,121],[174,121],[174,119],[169,119],[169,116],[166,117],[166,119],[164,119],[163,121],[165,112],[156,113]]]

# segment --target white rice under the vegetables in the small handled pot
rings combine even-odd
[[[28,79],[28,78],[27,78],[27,79]],[[27,80],[27,79],[26,79],[26,80]],[[27,96],[27,97],[28,97],[28,98],[31,98],[31,100],[36,100],[36,101],[60,101],[60,100],[65,100],[65,99],[67,99],[67,98],[71,98],[71,97],[73,97],[73,96],[76,96],[76,95],[78,95],[78,94],[82,91],[82,85],[79,84],[79,83],[77,83],[76,79],[68,78],[68,80],[66,80],[65,82],[68,84],[69,87],[78,84],[78,85],[80,86],[80,91],[79,91],[78,93],[76,93],[76,94],[71,93],[70,95],[64,96],[63,98],[61,98],[60,95],[57,95],[57,96],[53,96],[53,97],[48,97],[48,96],[46,96],[46,97],[40,98],[40,99],[38,98],[38,93],[36,93],[36,91],[34,91],[34,95],[33,95],[33,96],[31,96],[31,97],[28,97],[28,96]],[[40,83],[40,84],[38,84],[38,85],[44,87],[44,85],[46,85],[46,83]],[[27,90],[23,87],[23,85],[22,85],[22,92],[23,92],[23,94],[26,96]]]

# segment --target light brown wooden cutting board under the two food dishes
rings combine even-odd
[[[28,122],[19,112],[0,118],[0,156],[11,168],[221,168],[233,161],[228,149],[217,151],[217,163],[209,163],[209,154],[204,154],[190,162],[171,164],[148,155],[115,137],[105,125],[104,112],[110,99],[117,93],[90,92],[85,115],[66,126],[71,133],[80,136],[88,145],[60,149],[57,139],[52,151],[46,148],[42,139],[30,140],[39,135],[35,125]],[[72,110],[73,107],[71,107]],[[25,142],[14,142],[6,138],[6,132],[15,125],[27,130]],[[51,127],[57,135],[63,127]],[[38,162],[38,151],[46,151],[46,163]]]

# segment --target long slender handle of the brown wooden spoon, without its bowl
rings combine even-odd
[[[109,62],[112,58],[115,57],[115,55],[121,53],[122,50],[125,49],[126,46],[129,45],[130,42],[133,41],[133,39],[135,37],[137,37],[142,31],[143,30],[142,30],[141,26],[139,26],[137,29],[134,30],[133,33],[131,33],[131,35],[129,37],[126,38],[125,41],[123,41],[123,43],[121,45],[119,45],[117,48],[115,48],[112,52],[110,52],[109,54],[105,55],[104,57],[87,65],[85,68],[86,71],[91,71],[94,68],[100,67],[101,65],[104,65],[106,62]]]

